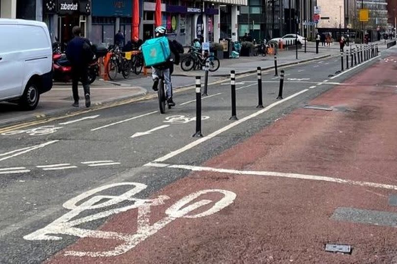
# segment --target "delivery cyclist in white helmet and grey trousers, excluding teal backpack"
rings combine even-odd
[[[166,36],[166,31],[167,29],[164,26],[158,26],[156,27],[156,29],[154,30],[156,37],[163,37]],[[159,81],[159,77],[161,75],[164,76],[164,84],[166,86],[166,93],[167,93],[167,102],[169,106],[175,106],[175,103],[173,101],[173,85],[171,82],[171,74],[174,70],[174,65],[179,64],[179,53],[178,50],[175,48],[173,42],[171,40],[168,39],[168,44],[170,45],[170,49],[171,52],[174,54],[174,61],[172,59],[172,56],[170,56],[170,58],[168,59],[168,61],[160,64],[160,65],[156,65],[155,67],[152,67],[152,74],[151,77],[153,79],[153,90],[157,91],[157,85],[158,85],[158,81]]]

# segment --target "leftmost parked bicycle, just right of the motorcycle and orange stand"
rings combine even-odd
[[[107,75],[110,80],[115,80],[118,73],[122,73],[124,79],[128,78],[131,68],[128,60],[123,58],[119,47],[111,48],[110,60],[106,65]]]

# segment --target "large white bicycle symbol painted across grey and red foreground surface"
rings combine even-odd
[[[134,186],[131,190],[124,192],[119,196],[114,195],[96,195],[93,196],[91,199],[82,202],[80,205],[76,205],[77,203],[81,202],[82,200],[86,199],[87,197],[101,192],[106,189],[120,187],[120,186]],[[154,224],[150,225],[150,207],[164,204],[164,200],[169,199],[170,197],[166,195],[160,195],[155,199],[139,199],[133,198],[132,196],[136,195],[137,193],[146,189],[145,184],[141,183],[133,183],[133,182],[124,182],[124,183],[115,183],[105,185],[88,192],[84,192],[69,201],[63,204],[63,207],[66,209],[70,209],[71,211],[46,227],[37,230],[29,235],[24,237],[25,240],[61,240],[61,237],[55,236],[56,234],[59,235],[70,235],[76,236],[79,238],[96,238],[96,239],[113,239],[113,240],[121,240],[123,244],[116,246],[114,249],[109,251],[66,251],[65,256],[87,256],[87,257],[112,257],[122,255],[140,242],[146,240],[148,237],[157,233],[160,229],[165,227],[167,224],[171,223],[177,218],[184,217],[184,218],[198,218],[204,216],[210,216],[221,211],[223,208],[229,206],[233,203],[234,199],[236,198],[236,194],[234,192],[225,191],[225,190],[201,190],[199,192],[191,193],[179,201],[177,201],[174,205],[168,208],[165,212],[167,216],[163,219],[155,222]],[[202,199],[200,201],[191,203],[195,199],[199,198],[200,195],[206,193],[221,193],[223,194],[223,198],[219,201],[215,202],[215,204],[209,208],[208,210],[197,213],[196,215],[188,215],[189,213],[195,211],[199,207],[205,206],[210,204],[214,201],[208,199]],[[101,200],[105,199],[105,202],[99,203]],[[109,206],[114,206],[121,202],[134,202],[132,205],[110,209],[107,211],[102,211],[100,213],[96,213],[89,216],[84,216],[81,218],[75,218],[80,213],[88,210],[98,210]],[[189,204],[191,203],[191,204]],[[90,230],[79,228],[77,226],[91,222],[97,219],[101,219],[104,217],[120,214],[122,212],[126,212],[131,209],[138,209],[138,217],[137,217],[137,232],[135,234],[124,234],[124,233],[117,233],[117,232],[110,232],[110,231],[100,231],[100,230]]]

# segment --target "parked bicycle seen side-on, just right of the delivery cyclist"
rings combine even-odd
[[[217,71],[219,69],[219,66],[221,65],[217,57],[215,57],[214,55],[208,55],[208,52],[202,55],[193,46],[190,47],[189,53],[189,56],[184,58],[180,65],[181,69],[185,72],[189,72],[193,68],[196,70],[196,68],[198,69],[199,67],[204,67],[207,61],[209,61],[208,71],[210,72]]]

